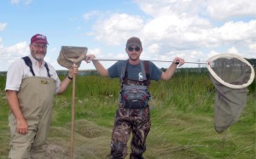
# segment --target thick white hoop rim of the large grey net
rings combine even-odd
[[[230,84],[229,82],[224,82],[224,80],[222,80],[220,77],[218,77],[218,75],[215,73],[215,71],[212,70],[212,67],[210,65],[212,60],[217,60],[218,58],[236,58],[236,59],[241,60],[242,62],[246,63],[251,68],[251,76],[250,76],[250,79],[248,80],[248,82],[241,84],[241,85],[235,85],[235,84]],[[237,54],[218,54],[218,55],[212,56],[208,60],[207,70],[211,73],[212,77],[214,77],[218,82],[220,82],[221,84],[223,84],[224,86],[229,87],[229,88],[247,88],[247,86],[249,86],[253,82],[253,79],[255,76],[253,66],[247,60],[245,60],[244,58],[242,58],[241,56],[239,56]]]

